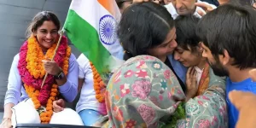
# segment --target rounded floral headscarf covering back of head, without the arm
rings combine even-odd
[[[138,55],[125,61],[108,82],[109,121],[105,126],[164,125],[184,99],[183,90],[169,67],[153,56]],[[184,117],[184,109],[179,108],[179,117]],[[163,119],[162,123],[160,119]]]

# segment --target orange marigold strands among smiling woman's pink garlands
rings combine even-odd
[[[26,69],[29,71],[29,73],[35,78],[35,79],[43,79],[45,75],[44,65],[42,60],[51,58],[54,55],[56,44],[53,44],[51,48],[49,48],[44,55],[42,49],[40,48],[38,41],[35,37],[28,38],[28,44],[27,44],[27,54],[26,54],[26,61],[27,66]],[[63,61],[62,70],[67,75],[68,72],[68,63],[69,63],[69,57],[71,55],[71,48],[67,46],[66,49],[66,56]],[[38,101],[38,96],[40,90],[35,90],[31,85],[24,84],[26,93],[29,97],[32,98],[32,102],[34,103],[34,106],[36,109],[41,107],[40,102]],[[42,124],[48,124],[51,116],[53,114],[53,102],[56,99],[56,96],[58,95],[58,85],[53,84],[50,96],[46,104],[46,111],[43,113],[40,113],[40,119]]]

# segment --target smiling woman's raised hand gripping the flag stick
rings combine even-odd
[[[44,69],[46,73],[49,73],[51,75],[57,75],[58,73],[61,73],[61,67],[57,65],[55,61],[43,60],[44,63]]]

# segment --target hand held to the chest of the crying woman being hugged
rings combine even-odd
[[[189,67],[189,70],[186,74],[186,85],[187,85],[187,92],[186,92],[186,102],[189,101],[190,98],[193,98],[196,95],[198,90],[198,85],[196,83],[196,71],[194,67]]]

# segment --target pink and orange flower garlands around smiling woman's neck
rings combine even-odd
[[[53,113],[52,104],[59,94],[58,85],[55,84],[55,79],[52,75],[47,77],[44,87],[41,89],[45,75],[42,60],[51,58],[54,55],[55,48],[56,44],[53,44],[44,55],[37,38],[34,36],[28,38],[20,48],[18,70],[26,93],[32,98],[32,102],[37,110],[44,106],[46,107],[46,110],[39,113],[42,124],[49,123]],[[65,75],[68,72],[70,55],[71,49],[67,45],[67,38],[62,36],[61,44],[56,51],[55,62],[62,68]]]

